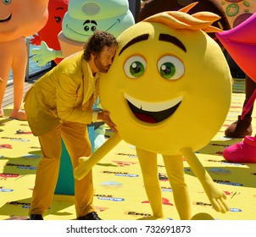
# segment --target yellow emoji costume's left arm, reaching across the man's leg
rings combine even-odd
[[[90,172],[92,167],[106,156],[114,146],[120,143],[121,140],[120,135],[114,134],[103,144],[103,146],[100,146],[91,157],[80,157],[79,165],[74,170],[75,179],[83,179],[86,174]]]

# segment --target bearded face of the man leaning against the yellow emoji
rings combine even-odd
[[[103,51],[95,55],[94,63],[101,73],[107,73],[114,59],[116,47],[103,47]]]

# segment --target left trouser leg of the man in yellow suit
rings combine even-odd
[[[42,160],[36,170],[36,183],[31,201],[31,214],[47,212],[51,205],[58,179],[59,161],[61,156],[60,127],[45,135],[40,135]]]

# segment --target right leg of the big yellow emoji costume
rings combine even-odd
[[[173,191],[175,207],[181,220],[191,219],[191,203],[184,177],[182,156],[163,156],[164,165]]]

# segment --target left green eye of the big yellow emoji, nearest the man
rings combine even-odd
[[[139,78],[146,70],[146,61],[141,56],[132,56],[128,58],[124,65],[126,76],[130,78]]]

